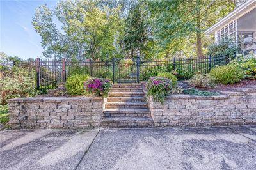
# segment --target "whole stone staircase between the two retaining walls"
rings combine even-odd
[[[103,113],[102,127],[135,128],[153,125],[141,84],[113,84]]]

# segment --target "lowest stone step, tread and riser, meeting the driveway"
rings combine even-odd
[[[108,128],[152,127],[153,120],[145,116],[107,117],[102,119],[101,125]]]

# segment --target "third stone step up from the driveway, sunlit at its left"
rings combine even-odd
[[[113,109],[113,108],[141,108],[147,109],[148,104],[147,102],[108,102],[106,103],[106,109]]]

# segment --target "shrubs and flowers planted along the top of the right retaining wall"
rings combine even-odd
[[[255,79],[256,56],[237,56],[228,65],[216,66],[209,74],[196,74],[189,79],[189,85],[195,88],[214,88],[216,84],[234,84],[244,78]],[[168,86],[166,85],[168,84]],[[218,95],[211,91],[201,91],[198,89],[177,88],[177,77],[173,73],[159,72],[157,77],[151,77],[147,82],[148,95],[154,100],[163,103],[164,98],[170,93],[185,93],[189,95]]]

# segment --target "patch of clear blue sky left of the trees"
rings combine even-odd
[[[36,58],[42,56],[41,38],[31,25],[35,8],[55,0],[0,0],[0,51],[8,56]]]

